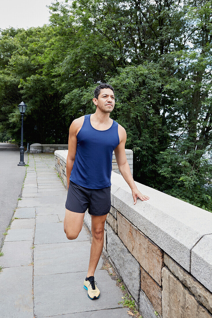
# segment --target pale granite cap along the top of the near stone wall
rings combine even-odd
[[[137,198],[137,203],[134,205],[131,188],[122,175],[112,172],[113,206],[190,272],[191,252],[194,246],[204,235],[212,233],[212,213],[144,184],[138,182],[135,184],[142,194],[150,197],[149,200],[142,201]],[[201,264],[196,263],[198,270],[195,273],[199,272],[195,277],[205,286],[204,280],[200,280],[200,273],[202,264],[204,268],[208,268],[208,271],[211,270],[212,240],[207,240],[207,248],[203,247],[203,243],[201,248],[202,253],[205,250],[210,252],[207,258],[201,259]],[[209,287],[212,290],[212,280]]]

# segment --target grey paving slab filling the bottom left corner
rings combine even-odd
[[[32,269],[32,266],[3,269],[0,274],[0,317],[34,317]]]

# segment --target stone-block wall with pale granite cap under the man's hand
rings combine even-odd
[[[64,158],[55,152],[65,177]],[[143,318],[211,318],[212,213],[135,183],[148,201],[134,205],[122,175],[111,173],[103,253]],[[84,223],[91,232],[88,210]]]

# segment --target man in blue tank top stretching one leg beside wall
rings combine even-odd
[[[64,232],[68,239],[76,239],[82,229],[85,211],[91,215],[92,244],[88,273],[84,288],[88,297],[96,299],[100,291],[94,272],[104,241],[104,223],[110,211],[110,178],[113,150],[119,171],[132,190],[134,204],[149,197],[138,191],[125,154],[125,129],[110,118],[115,105],[114,89],[101,84],[94,91],[94,114],[75,119],[69,129],[66,163],[67,200]]]

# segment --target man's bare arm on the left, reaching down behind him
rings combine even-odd
[[[66,159],[66,177],[67,177],[67,188],[69,187],[71,170],[74,165],[76,148],[77,148],[77,137],[76,131],[79,127],[76,119],[72,121],[71,126],[69,128],[69,137],[68,137],[68,155]]]

